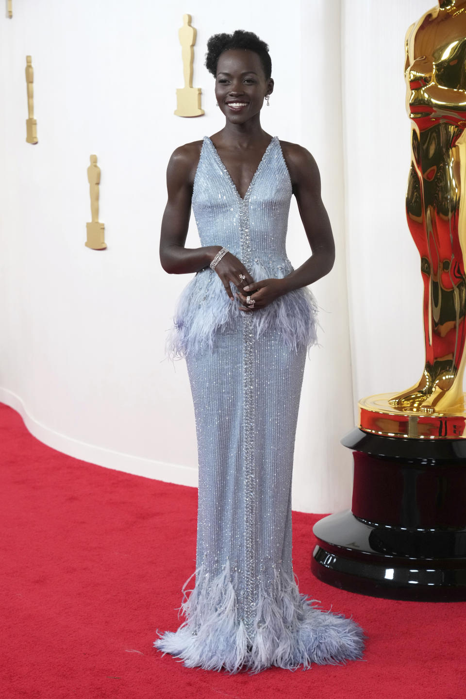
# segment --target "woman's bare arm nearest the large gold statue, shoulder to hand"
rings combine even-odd
[[[312,250],[312,257],[283,279],[266,279],[244,287],[253,294],[255,308],[263,308],[278,296],[308,284],[328,274],[335,261],[332,227],[321,199],[321,178],[316,161],[308,150],[296,143],[282,143],[283,154],[291,178],[293,194]],[[239,294],[243,303],[246,296]]]

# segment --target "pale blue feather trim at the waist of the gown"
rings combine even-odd
[[[289,261],[272,264],[269,269],[261,261],[254,261],[251,274],[254,280],[282,279],[292,271]],[[231,288],[234,294],[236,288],[233,284]],[[312,347],[317,341],[317,310],[310,289],[303,287],[289,291],[252,313],[255,336],[259,338],[273,328],[291,349],[296,349],[301,343]],[[228,298],[219,275],[209,267],[201,270],[177,301],[166,353],[175,358],[211,348],[215,333],[233,327],[240,315],[244,315],[244,311],[239,309],[238,301]]]

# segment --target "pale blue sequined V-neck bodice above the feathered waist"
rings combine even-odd
[[[212,140],[204,136],[192,196],[201,245],[222,245],[246,266],[256,260],[286,262],[291,194],[291,180],[277,136],[265,150],[244,199]],[[246,216],[247,226],[243,225]]]

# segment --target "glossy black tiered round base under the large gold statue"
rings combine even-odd
[[[466,600],[465,442],[349,433],[351,511],[314,525],[314,575],[377,597]]]

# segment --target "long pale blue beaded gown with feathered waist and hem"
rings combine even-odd
[[[192,195],[201,245],[228,248],[254,280],[293,271],[285,250],[291,194],[276,136],[244,199],[204,136]],[[154,646],[189,667],[259,672],[361,657],[361,628],[301,594],[291,561],[293,449],[315,341],[307,288],[245,313],[207,267],[180,296],[170,350],[186,358],[194,399],[196,570],[183,586],[182,625],[157,632]]]

